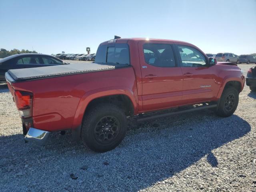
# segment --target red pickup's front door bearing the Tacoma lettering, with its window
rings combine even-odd
[[[200,50],[177,45],[180,66],[184,77],[182,100],[184,104],[212,100],[216,96],[218,80],[215,66],[208,66],[208,58]],[[214,95],[215,93],[215,95]]]

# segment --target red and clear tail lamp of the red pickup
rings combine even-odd
[[[26,91],[14,91],[14,101],[22,118],[32,116],[33,94]]]

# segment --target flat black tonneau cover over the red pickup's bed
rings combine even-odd
[[[14,81],[33,80],[69,74],[87,73],[115,68],[127,67],[128,64],[77,63],[56,66],[10,69],[8,73]],[[7,77],[7,76],[6,76]]]

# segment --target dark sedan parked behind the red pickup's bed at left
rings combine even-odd
[[[4,74],[9,69],[22,69],[22,68],[32,68],[32,67],[44,67],[44,66],[54,66],[68,64],[62,60],[44,54],[36,53],[22,53],[8,56],[0,60],[0,81],[5,82]]]

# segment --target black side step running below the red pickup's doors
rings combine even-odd
[[[186,113],[186,112],[194,112],[194,111],[199,111],[199,110],[204,110],[204,109],[216,108],[217,106],[218,106],[217,104],[209,104],[209,105],[194,107],[192,109],[178,110],[176,112],[153,115],[153,116],[149,116],[149,117],[141,117],[141,118],[137,119],[137,122],[152,120],[152,119],[156,119],[156,118],[160,118],[160,117],[167,117],[167,116],[171,116],[171,115],[182,114],[182,113]]]

